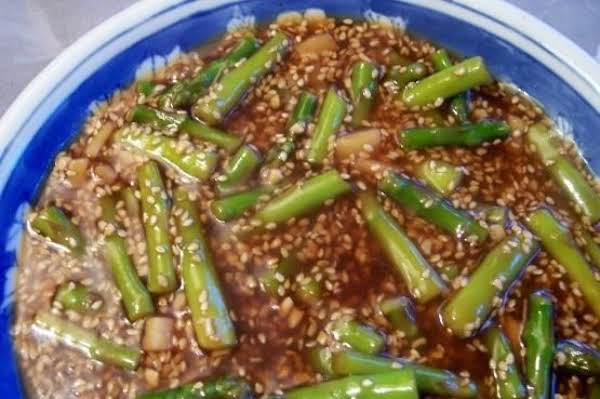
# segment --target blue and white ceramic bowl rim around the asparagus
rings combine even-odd
[[[600,67],[531,15],[488,0],[146,0],[66,49],[0,120],[0,397],[23,397],[11,343],[12,289],[23,216],[52,160],[91,107],[141,73],[164,65],[236,23],[270,21],[290,10],[380,18],[464,55],[482,55],[499,79],[544,105],[600,172]]]

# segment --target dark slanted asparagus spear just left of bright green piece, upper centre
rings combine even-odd
[[[286,136],[283,141],[275,144],[267,153],[265,165],[260,171],[264,184],[273,185],[281,180],[282,176],[279,169],[296,148],[296,136],[303,134],[308,123],[312,121],[318,100],[317,96],[308,91],[302,92],[298,97],[298,102],[287,123]]]

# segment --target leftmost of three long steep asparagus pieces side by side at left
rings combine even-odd
[[[117,232],[120,226],[116,219],[114,198],[102,197],[100,206],[102,220],[107,225],[111,225],[110,229],[105,229],[108,235],[105,238],[104,257],[110,266],[115,285],[121,293],[127,318],[133,322],[154,313],[154,303],[131,262],[125,239]]]

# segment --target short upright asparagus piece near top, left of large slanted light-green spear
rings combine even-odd
[[[352,103],[352,126],[359,127],[362,121],[367,119],[377,89],[377,65],[367,61],[357,61],[352,66],[351,90]]]

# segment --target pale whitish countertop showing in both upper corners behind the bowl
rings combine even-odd
[[[508,1],[552,25],[600,61],[600,0]],[[60,51],[133,2],[0,0],[0,115]]]

